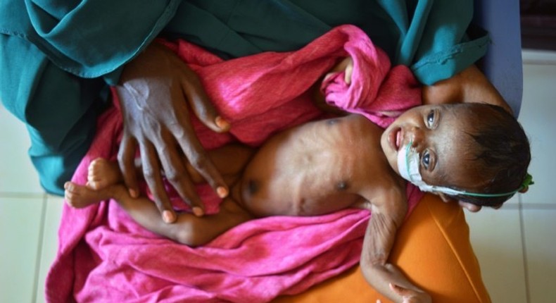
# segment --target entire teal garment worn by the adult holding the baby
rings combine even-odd
[[[4,0],[0,99],[27,124],[42,186],[61,194],[94,136],[107,85],[155,37],[234,58],[299,49],[350,23],[432,84],[486,52],[486,35],[466,37],[472,12],[471,0]]]

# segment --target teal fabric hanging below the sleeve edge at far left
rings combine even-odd
[[[66,73],[19,37],[0,35],[0,45],[18,49],[18,60],[0,59],[0,99],[27,125],[32,142],[28,153],[42,187],[63,194],[63,183],[70,180],[94,137],[96,114],[104,105],[98,101],[104,83]],[[29,85],[18,85],[21,79],[30,80]]]

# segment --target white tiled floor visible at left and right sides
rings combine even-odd
[[[539,58],[541,58],[539,60]],[[556,302],[556,55],[525,53],[519,120],[531,138],[536,184],[503,209],[468,214],[493,302]],[[0,302],[44,302],[62,199],[42,192],[27,158],[25,126],[0,106]]]

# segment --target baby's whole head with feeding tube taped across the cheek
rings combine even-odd
[[[499,106],[446,104],[403,113],[382,135],[391,167],[419,185],[479,206],[523,190],[531,160],[521,125]]]

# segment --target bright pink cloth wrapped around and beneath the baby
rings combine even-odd
[[[232,140],[258,145],[273,132],[321,117],[307,90],[348,55],[355,61],[352,83],[342,84],[342,77],[329,80],[323,87],[329,101],[382,126],[391,123],[391,113],[420,102],[410,71],[391,69],[387,56],[350,25],[336,27],[299,51],[230,61],[187,42],[166,44],[194,68],[217,109],[232,122],[231,132],[222,135],[194,121],[209,149]],[[117,153],[122,129],[118,109],[104,113],[98,125],[72,178],[76,183],[86,182],[92,159],[114,159]],[[422,194],[415,187],[407,189],[412,209]],[[215,194],[207,187],[200,190],[208,209],[217,211]],[[357,264],[369,216],[368,211],[346,209],[325,216],[260,218],[191,248],[144,230],[116,202],[87,209],[64,205],[46,299],[267,302],[303,292]]]

